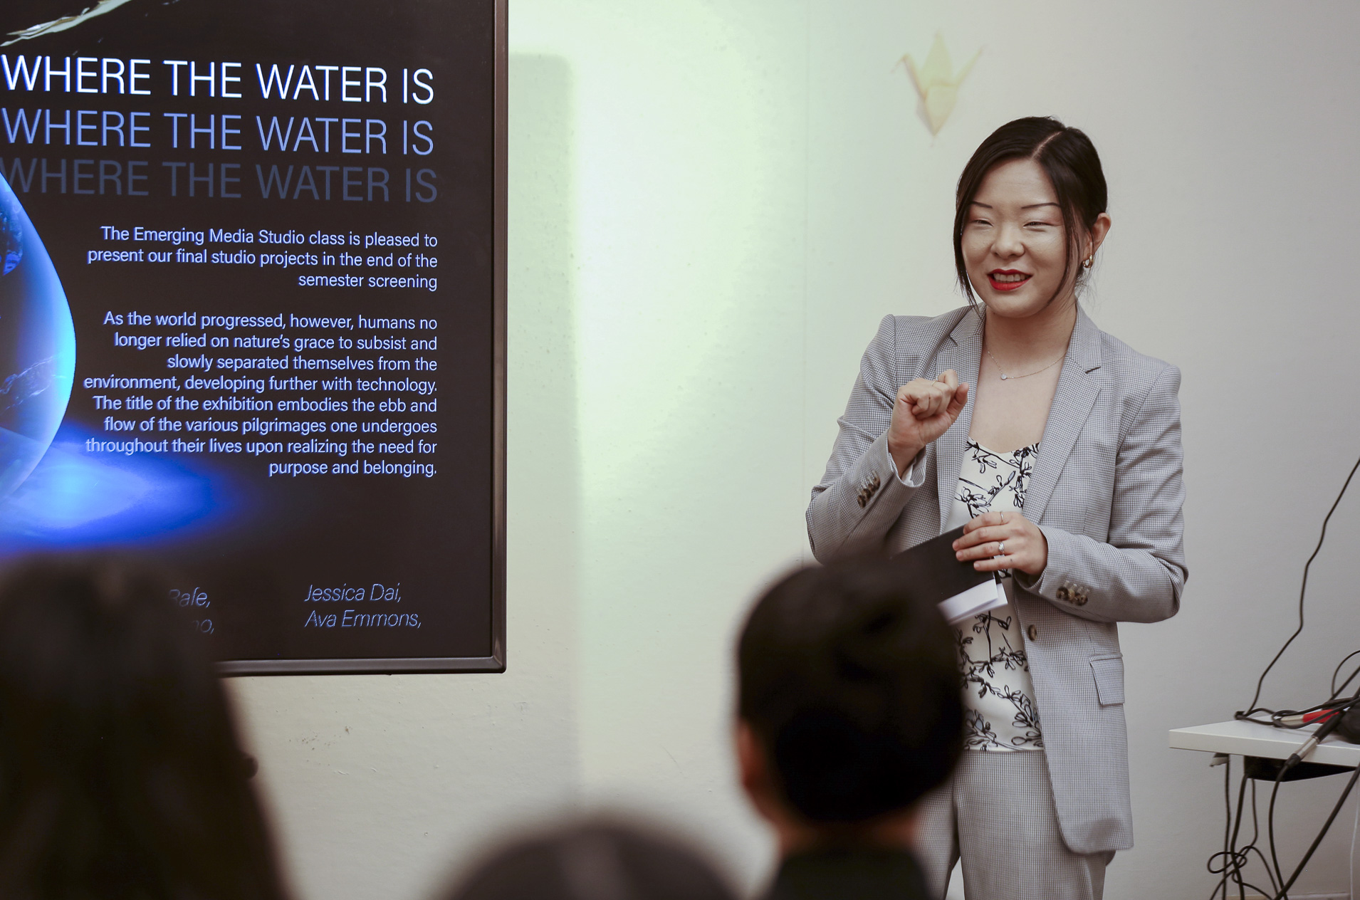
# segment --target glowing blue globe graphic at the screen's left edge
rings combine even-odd
[[[52,445],[75,370],[67,294],[29,213],[0,175],[0,499]]]

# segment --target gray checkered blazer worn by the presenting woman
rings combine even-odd
[[[860,364],[808,537],[823,563],[896,553],[940,534],[963,462],[972,404],[907,479],[888,455],[898,387],[953,368],[978,383],[982,321],[888,315]],[[1123,657],[1118,621],[1176,613],[1186,581],[1180,504],[1180,371],[1134,352],[1077,313],[1024,514],[1049,541],[1039,578],[1017,572],[1015,612],[1062,837],[1076,852],[1133,846]]]

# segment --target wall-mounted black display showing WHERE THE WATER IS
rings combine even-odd
[[[505,668],[503,0],[5,4],[0,557],[227,673]]]

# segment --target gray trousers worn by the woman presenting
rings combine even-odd
[[[962,858],[970,900],[1100,900],[1114,851],[1068,850],[1043,750],[966,750],[921,801],[917,858],[934,897]]]

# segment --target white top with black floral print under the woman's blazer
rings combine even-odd
[[[994,453],[970,439],[945,530],[989,511],[1024,510],[1039,445]],[[1010,593],[1010,574],[1002,583]],[[970,750],[1042,750],[1034,681],[1015,609],[1006,604],[955,625]]]

